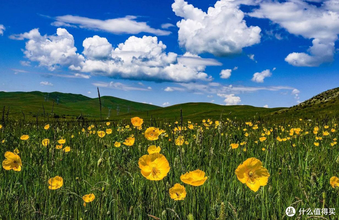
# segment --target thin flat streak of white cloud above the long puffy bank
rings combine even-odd
[[[91,30],[106,31],[113,34],[139,34],[146,32],[155,35],[169,35],[171,31],[155,29],[147,25],[146,22],[136,21],[136,16],[126,16],[123,18],[114,18],[107,20],[92,19],[73,15],[58,16],[55,18],[58,23],[56,26],[76,26]]]

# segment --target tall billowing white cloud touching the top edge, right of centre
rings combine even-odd
[[[206,13],[184,0],[175,0],[172,9],[183,18],[177,22],[179,45],[194,54],[228,56],[260,42],[261,29],[246,25],[236,1],[217,1]]]

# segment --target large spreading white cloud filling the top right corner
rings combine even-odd
[[[291,34],[312,39],[306,52],[292,52],[285,61],[293,66],[319,66],[332,62],[339,34],[339,3],[327,0],[316,6],[307,1],[262,1],[248,15],[268,18]]]

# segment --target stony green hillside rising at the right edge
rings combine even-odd
[[[339,87],[322,92],[291,108],[274,112],[278,118],[313,118],[339,114]]]

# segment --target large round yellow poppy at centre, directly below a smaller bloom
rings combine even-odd
[[[148,180],[162,180],[170,169],[166,157],[159,153],[143,155],[138,164],[141,174]]]

